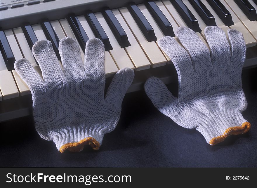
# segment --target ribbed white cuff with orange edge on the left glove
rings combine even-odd
[[[100,133],[92,133],[94,131],[62,130],[53,137],[53,142],[57,149],[63,153],[66,149],[72,152],[80,152],[85,145],[90,145],[93,149],[99,149],[103,140]]]

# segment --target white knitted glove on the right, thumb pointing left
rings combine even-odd
[[[145,92],[154,106],[185,128],[196,128],[210,145],[229,135],[246,133],[250,128],[241,112],[247,102],[241,73],[246,46],[242,33],[230,29],[228,36],[219,27],[204,30],[209,49],[194,31],[176,31],[181,47],[172,37],[158,41],[178,73],[178,98],[158,78],[145,83]],[[231,45],[231,50],[230,50]]]

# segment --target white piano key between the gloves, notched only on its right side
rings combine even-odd
[[[162,54],[162,51],[160,50],[160,48],[157,46],[157,44],[154,41],[152,42],[147,41],[144,34],[142,33],[142,31],[136,24],[135,20],[133,19],[129,10],[126,7],[123,7],[123,8],[119,8],[119,11],[121,12],[121,15],[123,16],[124,20],[129,26],[134,37],[137,39],[143,51],[147,55],[147,58],[150,60],[152,64],[151,66],[155,68],[155,67],[166,65],[167,60]]]

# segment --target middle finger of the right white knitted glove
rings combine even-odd
[[[209,49],[192,29],[179,27],[176,30],[176,36],[190,54],[195,71],[212,67]]]

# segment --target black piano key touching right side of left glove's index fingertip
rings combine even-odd
[[[103,44],[105,45],[105,51],[112,50],[112,45],[110,43],[110,40],[105,33],[103,27],[95,17],[94,13],[88,13],[86,14],[86,18],[88,20],[88,24],[90,25],[91,29],[93,30],[95,36],[103,41]]]

